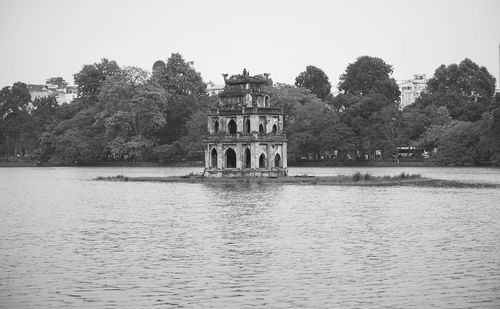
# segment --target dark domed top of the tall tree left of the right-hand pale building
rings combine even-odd
[[[401,95],[399,87],[391,78],[392,66],[376,57],[362,56],[347,66],[339,78],[338,88],[346,94],[367,95],[371,92],[385,95],[396,102]]]

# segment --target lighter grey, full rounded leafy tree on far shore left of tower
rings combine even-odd
[[[146,71],[126,67],[109,77],[99,93],[106,147],[112,155],[145,159],[156,145],[154,134],[166,123],[166,93]]]

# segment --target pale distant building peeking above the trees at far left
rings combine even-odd
[[[59,104],[69,103],[78,97],[78,88],[68,86],[68,83],[62,77],[51,77],[46,80],[45,85],[29,84],[28,91],[31,100],[53,95]]]

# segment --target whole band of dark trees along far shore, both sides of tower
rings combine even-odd
[[[441,164],[500,163],[495,79],[469,59],[442,65],[400,109],[393,68],[362,56],[340,75],[307,66],[294,85],[266,89],[285,112],[289,161],[394,158],[398,146],[433,151]],[[0,156],[49,164],[203,160],[207,114],[217,103],[192,64],[172,54],[149,73],[102,59],[74,74],[78,98],[31,100],[17,82],[0,91]]]

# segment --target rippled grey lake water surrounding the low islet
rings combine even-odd
[[[291,168],[500,183],[495,168]],[[499,308],[500,189],[0,168],[1,308]]]

